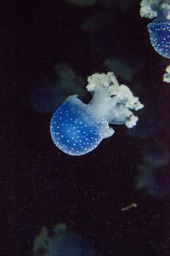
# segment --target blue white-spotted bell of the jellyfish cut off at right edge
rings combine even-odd
[[[153,20],[148,25],[150,42],[156,52],[170,58],[170,20]]]

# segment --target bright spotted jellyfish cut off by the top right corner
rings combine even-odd
[[[170,58],[170,3],[168,0],[143,0],[140,15],[154,19],[148,25],[150,42],[160,55]]]

